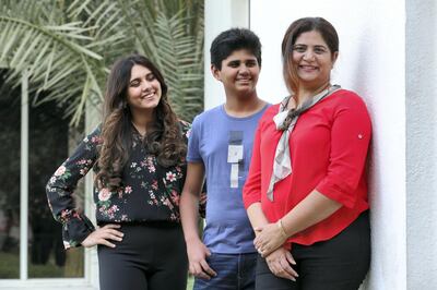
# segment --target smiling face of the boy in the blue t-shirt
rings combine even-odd
[[[211,71],[223,83],[226,95],[250,96],[256,92],[260,67],[257,58],[247,49],[235,50],[222,61],[222,69]]]

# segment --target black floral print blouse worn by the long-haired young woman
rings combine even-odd
[[[179,121],[187,142],[190,124]],[[54,173],[47,183],[49,207],[62,223],[66,249],[78,246],[95,229],[90,219],[74,206],[73,192],[94,166],[102,144],[101,128],[94,130]],[[146,152],[142,137],[132,126],[132,150],[122,171],[122,186],[117,192],[94,189],[97,223],[105,222],[179,222],[179,196],[182,191],[186,165],[162,167]]]

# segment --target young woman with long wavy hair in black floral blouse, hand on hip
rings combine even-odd
[[[114,64],[102,125],[47,184],[66,249],[97,245],[102,290],[186,289],[179,195],[188,131],[149,59],[134,55]],[[97,228],[73,202],[79,180],[91,168],[96,173]]]

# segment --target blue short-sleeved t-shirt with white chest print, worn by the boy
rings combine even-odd
[[[256,252],[241,190],[249,171],[255,131],[267,107],[252,116],[235,118],[222,105],[192,122],[187,161],[204,164],[208,197],[203,242],[213,253]]]

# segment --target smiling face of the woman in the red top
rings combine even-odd
[[[300,34],[293,45],[293,65],[303,87],[329,83],[338,52],[332,52],[318,31]]]

